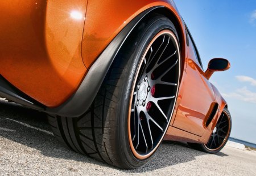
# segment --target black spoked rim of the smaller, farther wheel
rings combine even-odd
[[[209,138],[207,144],[204,144],[207,149],[210,151],[216,151],[225,144],[225,141],[228,139],[230,131],[230,119],[228,114],[223,111],[221,117],[218,119],[218,122],[212,132],[212,135]]]

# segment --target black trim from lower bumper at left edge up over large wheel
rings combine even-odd
[[[8,95],[8,97],[6,97],[8,100],[18,102],[28,108],[44,111],[48,114],[60,115],[63,117],[80,117],[90,108],[90,105],[96,97],[115,56],[118,54],[118,51],[121,49],[130,33],[139,24],[139,22],[141,22],[147,15],[152,14],[152,12],[158,12],[160,14],[164,13],[164,15],[172,14],[172,12],[164,6],[155,6],[141,12],[141,14],[131,20],[131,22],[128,23],[117,36],[115,36],[105,50],[102,51],[100,56],[90,67],[77,91],[60,106],[56,108],[48,108],[37,101],[32,100],[32,98],[24,95],[22,92],[12,91],[14,87],[9,88],[9,90],[5,89],[5,91],[9,92],[8,94],[0,89],[0,96],[1,94],[3,97]],[[174,14],[171,15],[172,18],[173,15]],[[180,26],[178,25],[177,28],[179,29]],[[179,31],[178,35],[179,38],[182,37]],[[180,42],[181,48],[182,43],[183,42]]]

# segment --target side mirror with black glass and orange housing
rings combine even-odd
[[[229,70],[229,68],[230,68],[230,63],[227,59],[214,58],[210,60],[208,64],[207,71],[205,71],[205,77],[207,79],[210,79],[210,76],[212,76],[213,72],[225,71],[225,70]]]

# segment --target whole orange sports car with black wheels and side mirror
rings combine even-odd
[[[119,168],[162,140],[208,153],[229,138],[226,101],[172,0],[3,1],[0,96],[44,111],[73,151]]]

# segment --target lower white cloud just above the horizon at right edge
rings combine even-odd
[[[256,104],[256,92],[251,92],[247,87],[237,89],[232,93],[224,93],[223,96]]]

